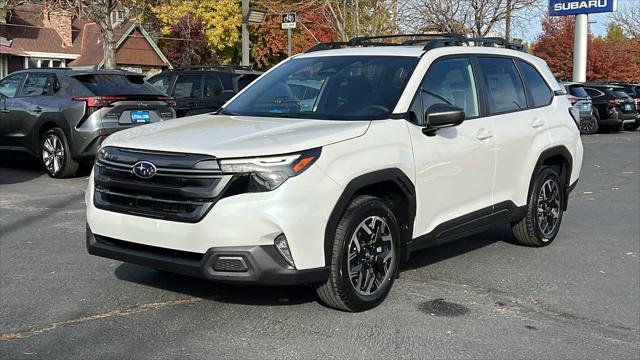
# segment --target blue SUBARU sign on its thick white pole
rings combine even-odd
[[[573,29],[573,81],[587,81],[589,14],[614,12],[618,0],[549,0],[550,16],[576,16]]]

